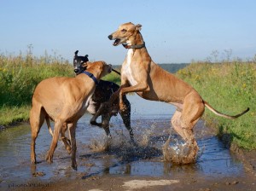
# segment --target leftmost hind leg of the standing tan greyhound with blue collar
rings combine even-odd
[[[44,108],[36,103],[35,101],[32,104],[32,109],[30,111],[30,125],[31,125],[31,161],[32,164],[36,164],[36,153],[35,153],[35,148],[36,148],[36,139],[38,137],[38,133],[41,129],[41,126],[44,124],[44,119],[45,119],[45,111]]]

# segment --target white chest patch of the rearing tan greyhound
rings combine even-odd
[[[137,84],[136,79],[134,78],[134,74],[131,72],[131,64],[132,64],[132,55],[133,55],[133,50],[129,49],[126,57],[126,62],[125,65],[122,67],[122,75],[124,75],[129,83],[133,86]]]

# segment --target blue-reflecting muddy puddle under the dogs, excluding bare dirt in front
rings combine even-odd
[[[162,146],[169,134],[172,134],[172,147],[182,142],[170,128],[175,108],[166,103],[144,101],[138,96],[129,96],[128,99],[131,101],[131,126],[137,145],[129,142],[129,133],[119,116],[111,119],[113,139],[107,142],[104,130],[91,126],[90,114],[84,114],[76,131],[78,171],[70,167],[70,156],[61,142],[55,150],[53,164],[45,162],[51,141],[45,124],[37,140],[37,165],[30,163],[28,124],[0,131],[0,189],[65,178],[86,179],[95,175],[230,177],[245,173],[241,162],[224,148],[202,121],[195,127],[201,148],[201,156],[195,165],[177,166],[164,162]]]

